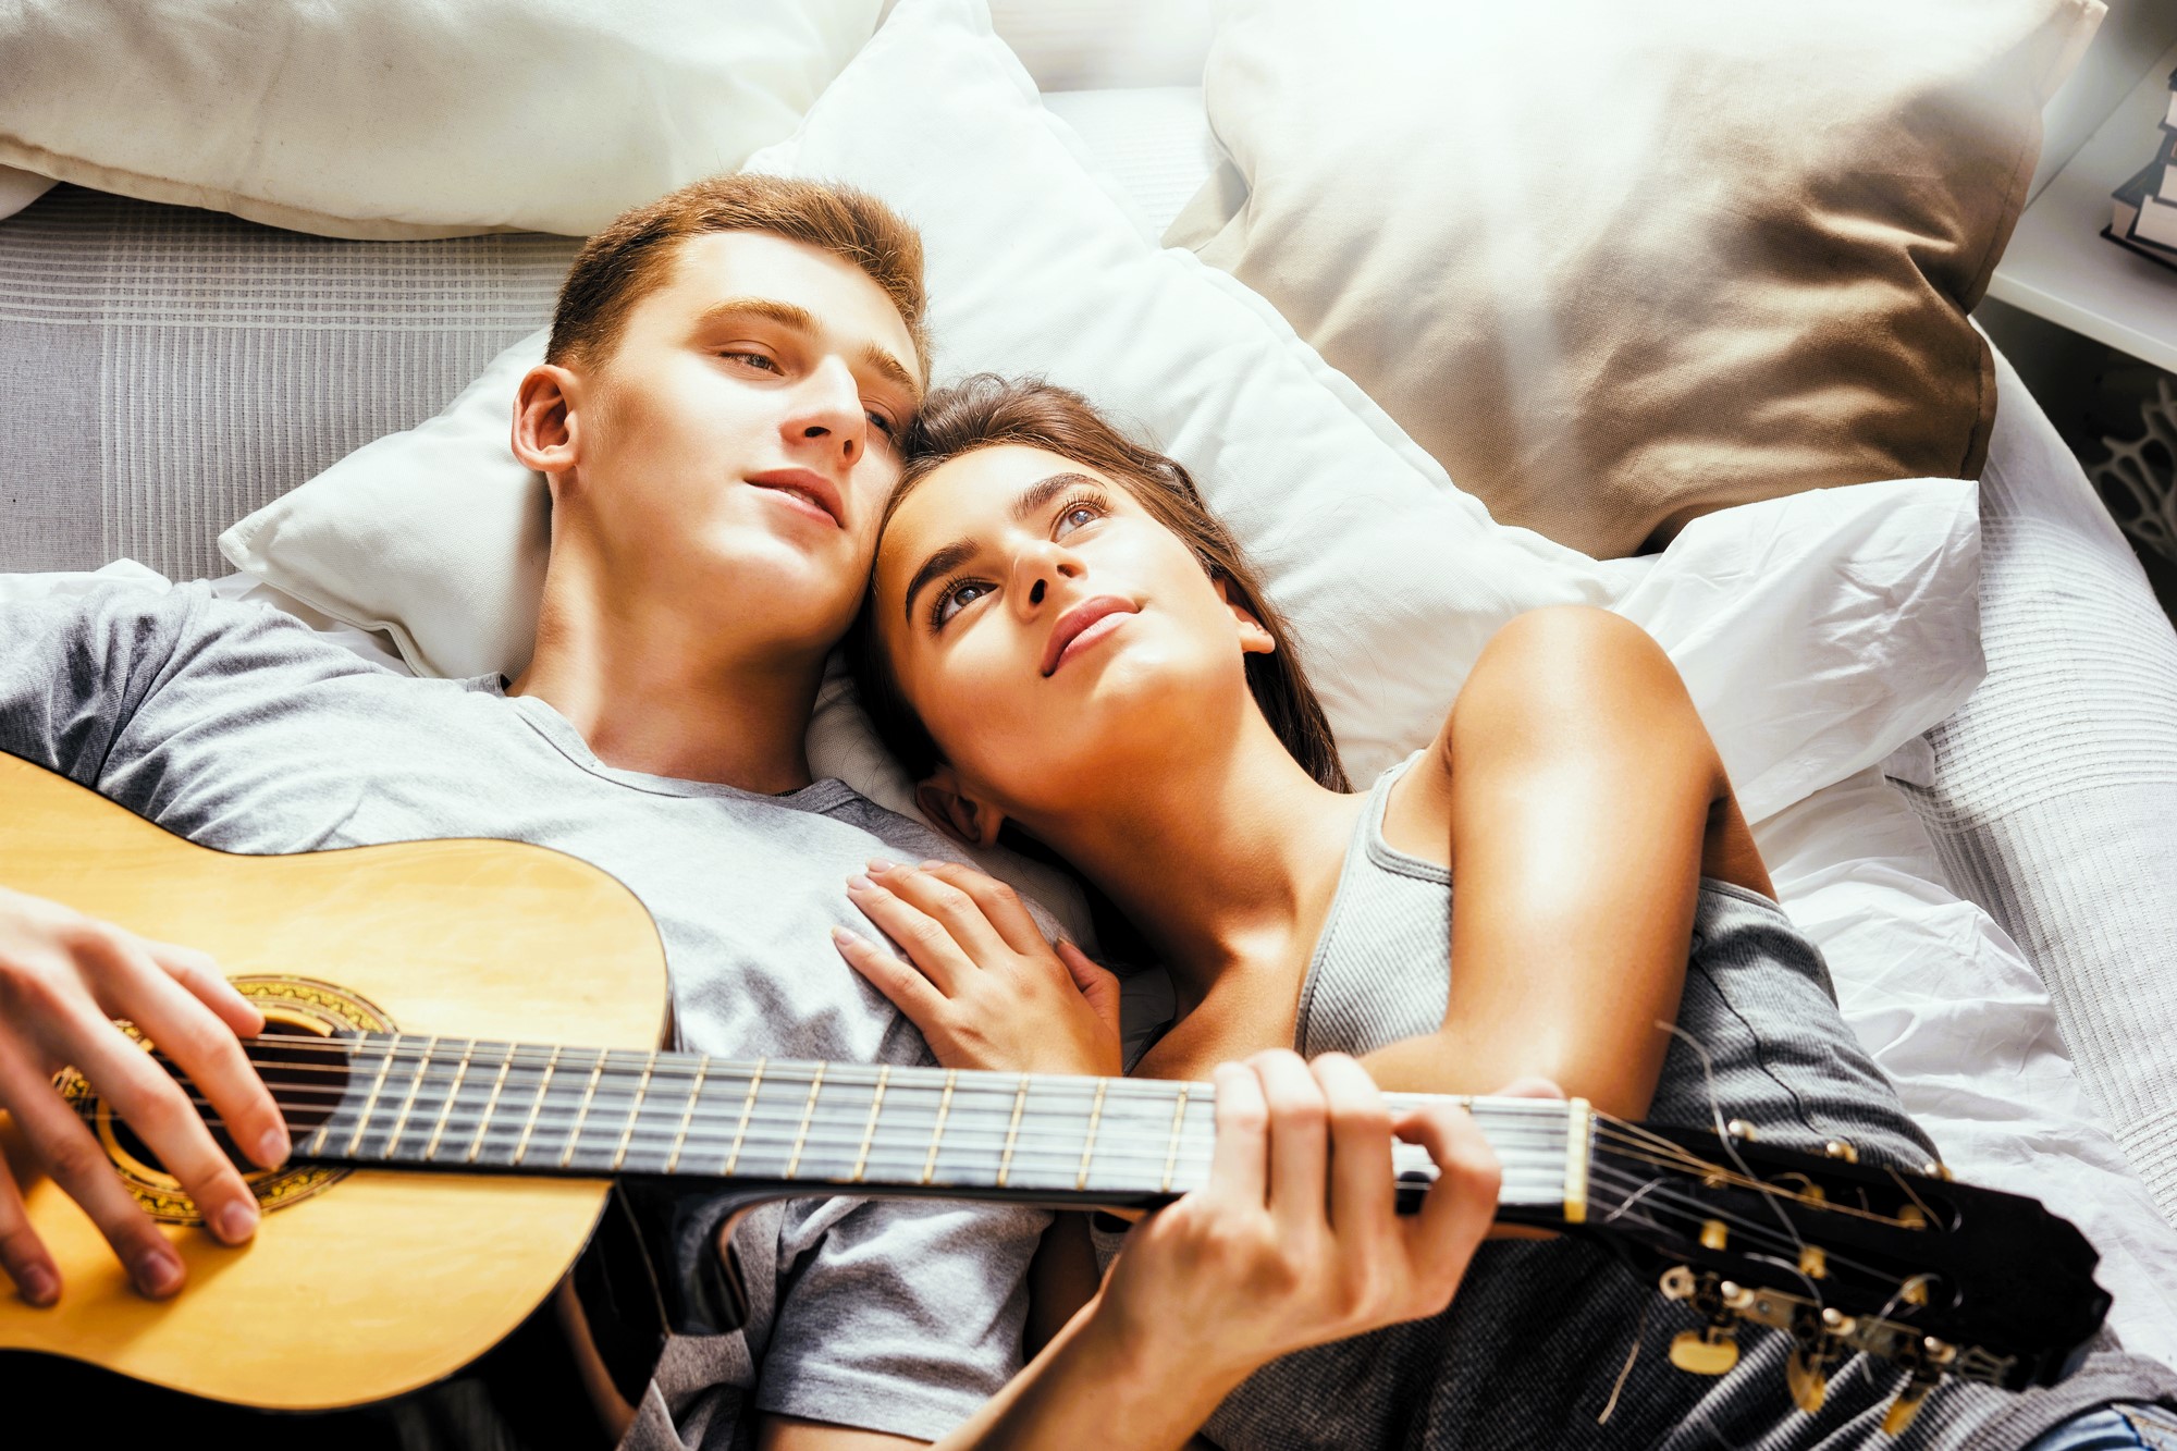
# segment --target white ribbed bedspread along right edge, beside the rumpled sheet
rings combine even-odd
[[[2049,983],[2079,1076],[2177,1224],[2177,632],[2001,353],[1996,390],[1988,678],[1905,793],[1953,887]]]

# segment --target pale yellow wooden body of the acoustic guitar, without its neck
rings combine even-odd
[[[0,756],[0,885],[211,952],[298,1031],[374,1015],[361,1026],[442,1041],[647,1050],[666,1028],[664,948],[642,904],[544,848],[231,856]],[[124,1135],[100,1131],[139,1200],[179,1220],[165,1233],[189,1283],[170,1301],[131,1290],[91,1220],[0,1115],[0,1146],[65,1283],[52,1309],[0,1294],[0,1349],[259,1407],[355,1405],[462,1368],[553,1290],[610,1187],[377,1168],[250,1174],[266,1216],[255,1242],[226,1248],[185,1222],[187,1200],[133,1159]]]

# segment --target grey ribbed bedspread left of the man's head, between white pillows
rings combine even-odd
[[[579,242],[337,242],[54,187],[0,222],[0,573],[224,575],[220,529],[457,394]]]

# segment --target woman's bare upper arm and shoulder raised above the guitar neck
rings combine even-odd
[[[1539,1074],[1639,1118],[1705,867],[1770,891],[1676,667],[1604,610],[1537,610],[1489,643],[1385,832],[1446,861],[1456,898],[1443,1026],[1363,1059],[1393,1092]]]

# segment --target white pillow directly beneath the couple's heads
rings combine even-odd
[[[901,0],[751,166],[862,185],[923,229],[940,379],[1041,373],[1186,464],[1289,612],[1358,780],[1428,741],[1487,638],[1546,603],[1620,603],[1672,649],[1750,819],[1881,760],[1981,675],[1970,484],[1729,510],[1637,560],[1498,527],[1267,303],[1143,242],[980,0]],[[542,484],[505,436],[538,346],[242,521],[226,558],[394,630],[418,669],[516,671]]]

